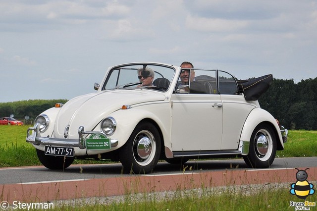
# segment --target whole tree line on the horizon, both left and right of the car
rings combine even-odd
[[[67,100],[28,100],[0,103],[0,117],[34,122],[38,114]],[[260,97],[262,108],[270,112],[288,129],[317,130],[317,78],[295,83],[293,79],[273,79],[269,89]]]

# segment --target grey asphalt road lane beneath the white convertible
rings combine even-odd
[[[209,172],[223,171],[226,169],[251,169],[243,159],[222,159],[189,161],[185,171],[177,165],[159,162],[154,172],[148,175],[182,174],[184,172]],[[317,157],[308,158],[275,158],[271,169],[316,167]],[[121,174],[122,165],[118,164],[93,164],[71,165],[64,170],[50,170],[44,166],[0,168],[0,184],[39,183],[61,180],[89,180],[99,178],[118,178],[133,175]]]

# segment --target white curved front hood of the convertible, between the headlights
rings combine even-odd
[[[164,100],[165,96],[162,93],[136,89],[109,90],[76,97],[68,101],[58,112],[54,137],[63,137],[67,125],[69,138],[78,137],[80,126],[84,126],[86,131],[92,131],[101,120],[121,109],[123,105],[133,106]]]

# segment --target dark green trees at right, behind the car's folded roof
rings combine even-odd
[[[259,103],[288,129],[317,130],[317,78],[273,79]]]

